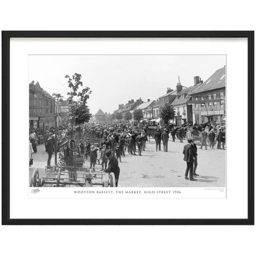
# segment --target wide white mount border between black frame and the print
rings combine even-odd
[[[247,123],[246,38],[12,38],[10,218],[247,218],[247,134],[239,142],[243,149],[239,156],[234,155],[235,150],[227,150],[227,199],[28,199],[28,171],[26,167],[20,168],[27,166],[27,157],[21,152],[14,154],[16,136],[12,136],[17,133],[17,124],[22,124],[19,134],[28,133],[23,104],[28,102],[28,54],[226,54],[227,113],[230,123],[236,124],[242,116]],[[238,108],[241,93],[244,107]],[[17,115],[17,102],[21,99],[21,114]],[[237,142],[229,140],[236,136],[235,131],[228,126],[227,131],[228,146],[237,148]],[[24,142],[20,139],[22,145],[26,142],[26,136]],[[239,158],[234,161],[234,157]]]

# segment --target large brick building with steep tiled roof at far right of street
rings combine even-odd
[[[189,93],[188,104],[192,105],[193,122],[198,124],[216,122],[226,125],[224,99],[226,96],[226,66],[214,72],[205,82]]]

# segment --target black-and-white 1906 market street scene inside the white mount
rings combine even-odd
[[[226,188],[226,55],[29,55],[28,79],[30,187]]]

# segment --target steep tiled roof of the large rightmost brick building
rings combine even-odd
[[[190,95],[212,91],[223,87],[226,87],[226,66],[216,70],[205,82],[190,92]]]

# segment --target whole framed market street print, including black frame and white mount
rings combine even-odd
[[[3,31],[2,224],[252,225],[253,124],[253,31]]]

